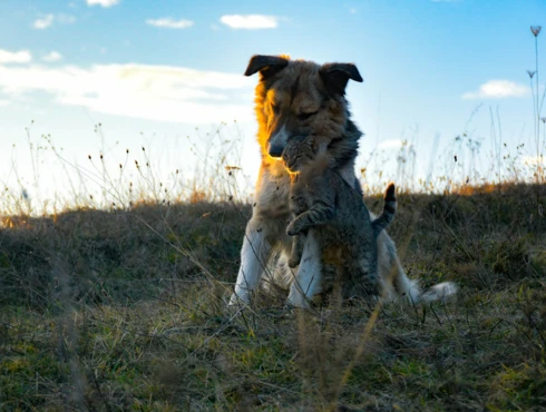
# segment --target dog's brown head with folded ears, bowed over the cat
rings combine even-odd
[[[245,76],[256,72],[259,140],[264,156],[281,157],[295,136],[315,135],[321,145],[328,145],[343,134],[349,119],[347,84],[362,81],[354,65],[320,66],[286,56],[253,56]]]

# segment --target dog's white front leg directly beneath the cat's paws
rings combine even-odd
[[[303,254],[290,287],[289,304],[296,307],[309,307],[311,298],[320,292],[321,249],[313,230],[305,236]]]

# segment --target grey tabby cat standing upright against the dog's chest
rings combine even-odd
[[[379,295],[377,237],[396,215],[394,185],[384,194],[382,214],[371,220],[361,194],[332,167],[331,157],[321,153],[314,136],[296,137],[283,151],[291,171],[290,208],[292,222],[286,234],[294,236],[289,266],[300,264],[308,230],[321,247],[323,265],[338,268],[335,277],[322,279],[322,292],[338,288],[341,300]],[[331,273],[331,271],[330,271]]]

